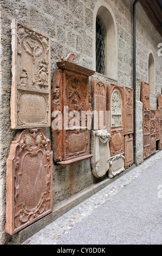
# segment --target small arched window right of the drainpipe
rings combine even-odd
[[[150,93],[155,94],[155,62],[152,51],[148,54],[148,83]]]

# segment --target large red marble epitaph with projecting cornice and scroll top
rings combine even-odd
[[[74,53],[66,59],[62,57],[57,62],[59,70],[54,71],[51,135],[53,150],[56,149],[54,161],[61,165],[92,157],[89,154],[92,114],[89,76],[94,71],[77,65],[75,58]]]

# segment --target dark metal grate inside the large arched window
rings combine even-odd
[[[102,23],[96,17],[96,72],[104,74],[105,71],[105,34]]]

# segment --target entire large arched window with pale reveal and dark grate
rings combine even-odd
[[[114,14],[109,5],[99,0],[94,9],[95,49],[93,69],[115,80],[118,79],[118,34]]]

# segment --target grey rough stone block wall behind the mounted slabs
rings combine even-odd
[[[41,31],[51,38],[51,79],[56,62],[68,53],[76,54],[77,63],[95,70],[94,11],[96,4],[102,4],[114,14],[116,42],[118,44],[118,79],[95,74],[94,78],[119,86],[132,86],[132,2],[133,0],[2,0],[0,29],[0,102],[1,102],[1,159],[0,159],[0,243],[10,238],[5,233],[5,172],[10,144],[17,130],[10,129],[11,95],[11,20],[18,19],[28,26]],[[162,65],[157,55],[157,45],[162,41],[152,23],[137,5],[137,81],[147,82],[148,52],[152,50],[155,59],[156,95],[151,95],[151,108],[157,108],[157,94],[161,93]],[[142,118],[142,117],[141,117]],[[50,138],[50,129],[44,129]],[[139,142],[137,142],[139,143]],[[138,148],[142,148],[138,144]],[[139,160],[140,162],[141,160]],[[102,179],[105,179],[103,177]],[[67,167],[53,167],[54,205],[90,185],[99,182],[92,175],[90,160],[71,164]]]

